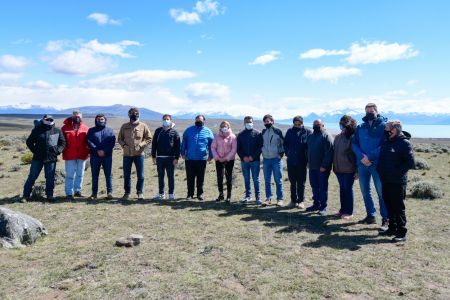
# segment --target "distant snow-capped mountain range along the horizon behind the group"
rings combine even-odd
[[[0,114],[33,114],[33,115],[43,115],[43,114],[55,114],[55,115],[68,115],[71,114],[74,109],[79,109],[85,116],[95,116],[98,113],[103,113],[110,117],[124,117],[128,115],[129,105],[114,104],[110,106],[83,106],[77,108],[67,108],[67,109],[56,109],[54,107],[44,107],[39,105],[9,105],[0,106]],[[162,113],[153,111],[147,108],[139,108],[141,119],[143,120],[159,120],[162,117]],[[355,112],[354,110],[347,109],[341,111],[334,111],[324,114],[310,113],[303,116],[305,124],[311,124],[315,119],[321,119],[325,123],[338,123],[339,119],[344,115],[348,114],[354,117],[358,123],[364,117],[364,114]],[[198,113],[184,113],[179,115],[174,115],[176,119],[193,119]],[[450,125],[450,114],[427,114],[427,113],[394,113],[387,112],[382,114],[384,117],[393,120],[398,119],[402,123],[410,125]],[[231,116],[226,113],[208,113],[206,114],[208,119],[242,119],[243,116]],[[276,120],[280,123],[290,123],[291,119]]]

